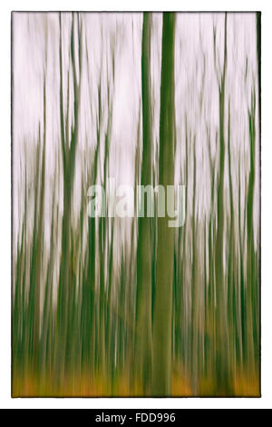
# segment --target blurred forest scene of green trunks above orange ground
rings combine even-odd
[[[260,14],[12,33],[13,397],[259,396]],[[184,223],[88,214],[110,178],[183,185]]]

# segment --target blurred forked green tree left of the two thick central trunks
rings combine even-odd
[[[78,52],[74,45],[74,14],[72,19],[71,28],[71,60],[73,71],[73,126],[71,128],[71,140],[69,144],[68,133],[64,135],[64,113],[63,113],[63,65],[62,65],[62,25],[60,18],[60,118],[61,118],[61,139],[63,147],[63,227],[62,227],[62,253],[60,262],[59,274],[59,291],[57,302],[57,365],[59,369],[59,379],[63,380],[65,362],[69,359],[69,345],[70,334],[68,330],[68,323],[71,324],[71,316],[73,316],[74,304],[74,280],[73,280],[73,242],[72,242],[72,202],[73,202],[73,178],[74,178],[74,164],[75,152],[78,143],[79,133],[79,108],[80,108],[80,94],[81,94],[81,71],[82,71],[82,25],[79,23],[78,18]],[[76,55],[79,61],[79,77],[76,77]],[[69,82],[68,82],[69,86]],[[66,124],[68,122],[69,111],[66,112]]]

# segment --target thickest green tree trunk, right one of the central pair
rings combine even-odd
[[[175,20],[163,14],[160,84],[160,161],[159,184],[165,190],[174,184],[174,116],[175,116]],[[158,218],[158,249],[154,302],[154,367],[152,392],[171,393],[171,319],[173,284],[174,230],[168,217]]]

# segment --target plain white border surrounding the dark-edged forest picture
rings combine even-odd
[[[96,4],[95,4],[96,3]],[[271,187],[272,184],[272,132],[271,82],[272,82],[272,6],[270,2],[259,0],[241,2],[239,0],[184,2],[179,1],[102,1],[40,0],[10,1],[1,3],[0,43],[0,408],[272,408],[272,283],[271,283]],[[270,4],[270,5],[269,5]],[[204,8],[204,5],[206,6]],[[92,9],[90,9],[92,6]],[[246,8],[245,8],[246,6]],[[11,399],[11,108],[10,108],[10,58],[11,58],[11,11],[12,10],[175,10],[175,11],[261,11],[262,24],[262,274],[261,274],[261,331],[262,331],[262,398],[260,399]],[[24,78],[24,76],[22,76]]]

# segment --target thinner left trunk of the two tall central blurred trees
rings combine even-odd
[[[151,121],[151,14],[144,13],[141,41],[141,96],[142,96],[142,160],[141,185],[151,184],[152,121]],[[152,368],[151,336],[151,218],[138,219],[137,247],[137,302],[136,354],[143,393],[150,392]]]

